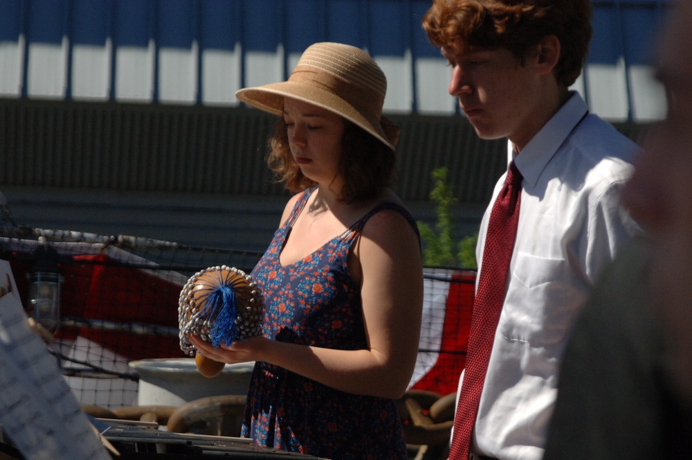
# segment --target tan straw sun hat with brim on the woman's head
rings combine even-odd
[[[361,48],[316,43],[304,51],[288,81],[239,89],[235,96],[257,109],[281,115],[284,97],[343,116],[394,150],[399,130],[382,116],[387,78]]]

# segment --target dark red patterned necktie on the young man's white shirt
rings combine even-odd
[[[512,258],[514,240],[516,240],[521,180],[522,175],[512,161],[504,186],[490,214],[478,279],[478,292],[471,315],[464,383],[454,418],[450,460],[468,459],[471,432],[473,432],[478,413],[478,402],[488,370],[495,329],[498,328],[500,312],[502,312],[509,261]]]

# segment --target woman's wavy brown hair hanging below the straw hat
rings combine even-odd
[[[283,183],[286,189],[298,193],[317,185],[303,175],[293,159],[282,116],[274,125],[269,148],[267,165],[276,181]],[[347,120],[344,120],[341,148],[338,166],[338,173],[344,179],[341,200],[347,203],[370,200],[390,186],[394,176],[394,150]]]

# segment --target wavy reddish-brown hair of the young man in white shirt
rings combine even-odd
[[[593,35],[590,0],[434,0],[423,28],[435,46],[506,48],[525,64],[543,37],[560,40],[554,69],[559,83],[570,86],[581,73]]]

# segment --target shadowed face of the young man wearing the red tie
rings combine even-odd
[[[523,147],[540,130],[532,111],[543,84],[531,60],[520,65],[505,48],[465,48],[459,40],[444,47],[452,68],[448,91],[482,139],[508,137]],[[538,117],[543,118],[543,117]]]

